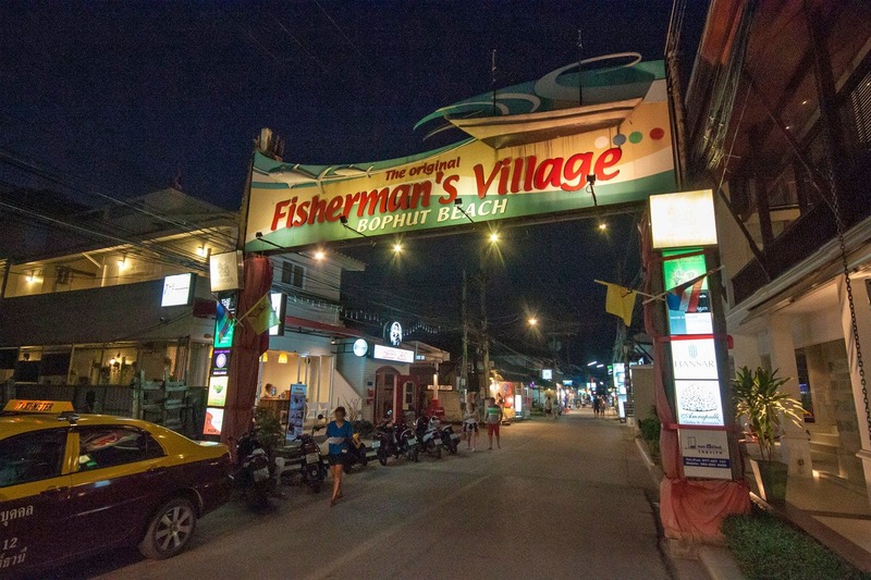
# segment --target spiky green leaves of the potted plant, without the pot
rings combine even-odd
[[[732,394],[736,415],[746,415],[750,431],[759,443],[762,459],[771,460],[774,440],[784,418],[796,425],[802,422],[801,403],[781,391],[789,379],[781,379],[777,371],[747,367],[738,370],[732,381]]]

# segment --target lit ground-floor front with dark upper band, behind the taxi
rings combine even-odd
[[[81,412],[139,417],[195,434],[213,322],[204,308],[208,283],[185,276],[191,284],[171,306],[163,306],[165,280],[3,299],[0,397],[70,400]],[[83,312],[90,312],[88,322]],[[170,398],[174,408],[167,409]]]

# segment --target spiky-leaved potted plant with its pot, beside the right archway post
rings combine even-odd
[[[747,427],[759,445],[760,459],[750,457],[753,476],[762,498],[770,504],[786,502],[787,466],[774,460],[774,442],[782,432],[783,421],[801,424],[801,403],[781,391],[790,379],[781,379],[777,371],[747,367],[738,370],[732,381],[736,416],[747,417]]]

